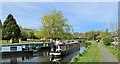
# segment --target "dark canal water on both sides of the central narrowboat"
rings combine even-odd
[[[62,63],[68,63],[71,61],[71,59],[78,55],[78,53],[82,53],[84,51],[85,47],[80,47],[80,50],[76,50],[75,52],[65,56],[65,57],[57,57],[55,58],[57,62]],[[51,57],[49,56],[49,50],[41,50],[40,52],[34,53],[32,55],[21,55],[21,56],[4,56],[2,57],[2,62],[4,64],[10,63],[10,64],[17,64],[19,62],[37,62],[40,64],[50,64]],[[54,61],[54,60],[52,60]]]

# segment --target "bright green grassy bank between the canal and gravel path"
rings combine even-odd
[[[97,44],[93,41],[91,45],[88,46],[82,54],[79,53],[76,57],[74,57],[71,60],[71,62],[100,62],[100,61],[101,61],[100,49],[98,48]]]

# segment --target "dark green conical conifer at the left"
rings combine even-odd
[[[12,14],[9,14],[3,23],[3,39],[19,39],[21,31]]]

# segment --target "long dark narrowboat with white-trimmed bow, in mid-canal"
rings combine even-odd
[[[72,52],[74,52],[75,50],[80,49],[79,47],[79,42],[61,42],[59,44],[54,44],[53,46],[51,46],[51,52],[50,55],[51,56],[65,56],[68,55]]]

